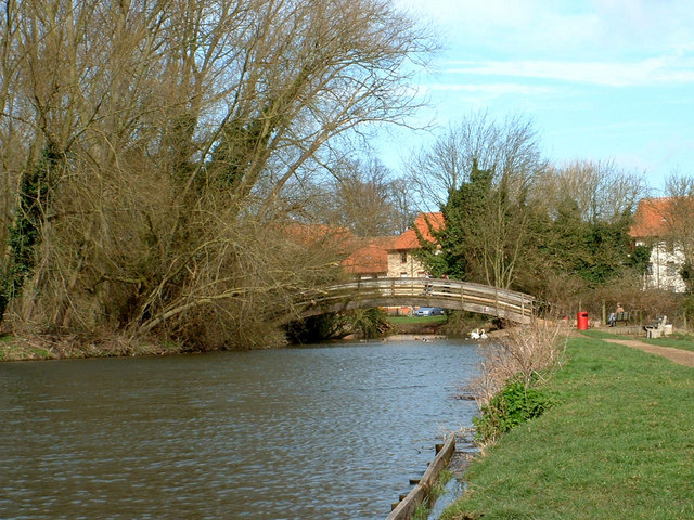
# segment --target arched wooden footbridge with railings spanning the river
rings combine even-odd
[[[374,278],[301,292],[298,317],[358,308],[421,306],[487,314],[516,323],[532,317],[532,296],[442,278]],[[287,317],[287,321],[291,317]]]

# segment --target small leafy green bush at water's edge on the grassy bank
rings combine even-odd
[[[520,379],[510,381],[481,406],[481,417],[473,418],[477,440],[493,441],[514,426],[542,415],[551,406],[551,399],[537,388],[527,387]]]

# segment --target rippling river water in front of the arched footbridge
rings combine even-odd
[[[461,341],[0,364],[0,518],[383,519],[475,372]]]

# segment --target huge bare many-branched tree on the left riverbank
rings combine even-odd
[[[3,160],[18,179],[56,157],[15,310],[53,328],[203,335],[214,315],[231,338],[240,315],[331,273],[317,255],[288,262],[292,240],[268,230],[286,229],[336,139],[406,121],[408,65],[428,52],[383,0],[5,8],[0,128],[20,121],[28,145]]]

